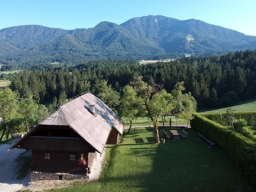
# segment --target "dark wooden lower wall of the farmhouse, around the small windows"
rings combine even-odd
[[[50,159],[45,159],[45,153],[50,153]],[[75,154],[75,161],[70,161],[69,155]],[[85,174],[86,168],[90,170],[93,165],[95,153],[84,154],[86,165],[78,165],[77,159],[81,157],[77,152],[54,152],[33,150],[32,171]]]

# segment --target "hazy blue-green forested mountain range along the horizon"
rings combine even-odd
[[[38,25],[0,30],[0,62],[85,62],[140,59],[154,55],[211,54],[256,48],[256,36],[188,19],[144,16],[120,25],[65,30]]]

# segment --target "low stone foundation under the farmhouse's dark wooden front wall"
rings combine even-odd
[[[74,180],[74,179],[88,179],[88,175],[69,174],[69,173],[48,173],[48,172],[31,172],[30,180],[42,181],[42,180]]]

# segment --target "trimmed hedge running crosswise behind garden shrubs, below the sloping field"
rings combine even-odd
[[[227,121],[227,113],[211,113],[211,114],[202,114],[202,116],[215,121],[223,126],[230,126]],[[247,125],[256,125],[256,112],[234,112],[236,119],[245,119]]]

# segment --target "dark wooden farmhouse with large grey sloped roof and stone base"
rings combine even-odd
[[[91,93],[58,106],[10,147],[32,150],[31,181],[88,178],[97,153],[123,134],[124,121]]]

